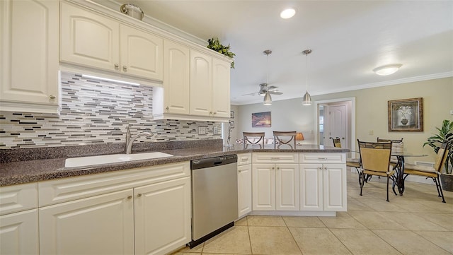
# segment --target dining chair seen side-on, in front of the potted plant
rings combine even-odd
[[[442,185],[440,185],[440,170],[442,166],[445,165],[445,160],[447,160],[448,149],[447,143],[442,143],[439,150],[437,150],[436,161],[434,166],[422,166],[422,165],[413,165],[413,164],[404,164],[403,179],[406,179],[409,174],[423,176],[431,178],[432,181],[436,184],[437,195],[442,197],[442,203],[445,203],[444,193],[442,192]]]

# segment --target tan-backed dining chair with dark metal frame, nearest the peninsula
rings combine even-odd
[[[393,181],[395,186],[396,177],[393,166],[390,165],[391,141],[389,143],[374,143],[359,141],[360,152],[360,196],[365,185],[365,180],[373,175],[387,177],[387,202],[389,202],[389,179]],[[396,195],[396,192],[394,191]]]

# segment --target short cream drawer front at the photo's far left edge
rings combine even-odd
[[[0,215],[38,208],[38,183],[0,187]]]

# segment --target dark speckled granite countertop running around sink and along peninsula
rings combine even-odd
[[[183,146],[184,147],[184,146]],[[164,149],[164,150],[162,150]],[[20,149],[18,149],[20,150]],[[79,149],[80,150],[80,149]],[[61,150],[60,150],[61,151]],[[81,150],[84,151],[84,150]],[[323,147],[316,145],[302,145],[297,148],[290,148],[289,146],[280,146],[280,148],[274,148],[273,145],[265,146],[260,148],[258,146],[247,146],[244,148],[241,144],[234,145],[233,148],[222,146],[222,143],[207,143],[202,146],[192,148],[164,148],[159,150],[154,148],[153,150],[139,150],[133,153],[144,153],[149,151],[160,151],[162,153],[168,153],[173,155],[168,158],[157,158],[153,160],[135,160],[130,162],[111,163],[103,165],[91,165],[86,167],[64,167],[64,161],[66,158],[74,158],[76,153],[71,152],[69,156],[62,156],[61,158],[39,158],[36,153],[30,151],[23,151],[23,154],[29,154],[25,159],[32,160],[10,160],[9,162],[0,163],[0,186],[8,186],[13,184],[23,184],[28,182],[39,182],[50,179],[64,178],[64,177],[76,177],[85,174],[98,174],[103,172],[111,172],[117,170],[127,170],[137,167],[149,167],[153,165],[164,165],[175,162],[183,162],[190,160],[197,160],[200,158],[211,158],[222,155],[231,155],[237,153],[249,153],[249,152],[297,152],[297,153],[348,153],[348,149]],[[102,154],[115,154],[118,153],[116,150],[110,150],[110,153],[98,153]],[[17,150],[14,153],[20,155]],[[122,153],[122,152],[120,152]],[[96,155],[96,154],[91,154]],[[43,157],[43,156],[42,156]],[[2,155],[2,158],[5,158]],[[11,157],[12,158],[12,157]],[[35,159],[38,158],[38,159]]]

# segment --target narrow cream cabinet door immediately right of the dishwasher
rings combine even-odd
[[[252,166],[238,167],[238,208],[239,218],[252,210]]]

